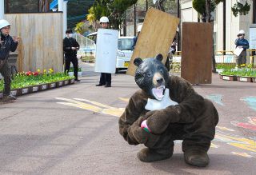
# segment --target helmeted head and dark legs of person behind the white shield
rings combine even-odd
[[[109,26],[109,18],[102,17],[99,20],[102,29],[107,29]],[[99,79],[99,83],[96,86],[105,86],[105,87],[111,87],[111,74],[110,73],[101,73],[101,77]]]

